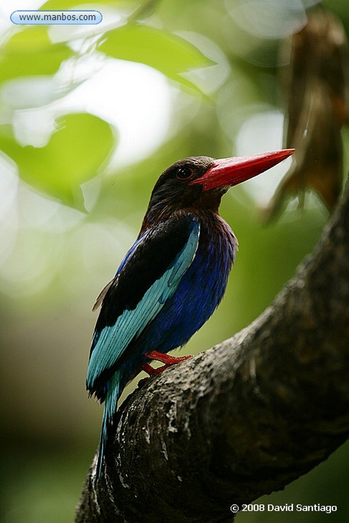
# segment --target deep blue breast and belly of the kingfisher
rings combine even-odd
[[[167,353],[184,345],[204,325],[226,291],[237,248],[236,238],[223,220],[224,232],[201,222],[197,252],[176,292],[165,303],[142,340],[143,350]]]

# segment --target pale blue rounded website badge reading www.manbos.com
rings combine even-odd
[[[15,11],[10,16],[14,24],[99,24],[102,14],[95,10],[80,11]]]

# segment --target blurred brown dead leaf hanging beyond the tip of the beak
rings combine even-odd
[[[349,52],[341,22],[317,9],[291,38],[285,78],[286,147],[292,164],[265,210],[275,217],[285,199],[313,189],[331,212],[342,188],[341,127],[348,116]]]

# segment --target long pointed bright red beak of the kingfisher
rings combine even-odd
[[[233,156],[216,160],[205,173],[190,182],[190,185],[200,184],[207,191],[223,185],[238,185],[257,174],[274,167],[295,152],[294,149],[284,149],[268,153],[251,154],[249,156]]]

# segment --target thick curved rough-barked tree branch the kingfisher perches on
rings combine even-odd
[[[115,419],[76,523],[231,521],[349,435],[349,186],[311,257],[231,339],[148,380]]]

